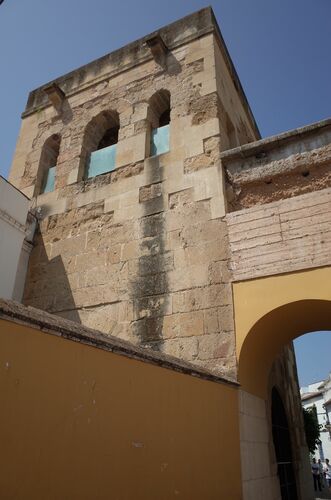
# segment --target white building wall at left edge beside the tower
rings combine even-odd
[[[14,298],[29,199],[0,176],[0,297]],[[17,292],[18,295],[20,292]],[[17,298],[17,297],[16,297]]]

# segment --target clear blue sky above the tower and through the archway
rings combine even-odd
[[[331,0],[210,4],[263,137],[331,116]],[[206,5],[200,0],[5,0],[0,7],[0,173],[8,174],[30,90]],[[321,363],[323,353],[331,352],[330,337],[312,344],[310,336],[299,340],[304,364],[316,357],[322,378],[330,369],[327,359]]]

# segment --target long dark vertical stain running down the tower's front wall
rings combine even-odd
[[[144,347],[160,350],[163,321],[169,306],[167,271],[172,257],[166,252],[163,166],[159,158],[145,163],[146,185],[140,190],[144,215],[140,219],[140,256],[132,284],[133,333]]]

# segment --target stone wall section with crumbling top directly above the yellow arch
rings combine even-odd
[[[331,121],[222,153],[233,281],[330,265]]]

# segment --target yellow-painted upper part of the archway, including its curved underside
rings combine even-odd
[[[331,330],[331,268],[235,283],[233,295],[239,382],[265,397],[281,347],[304,333]]]

